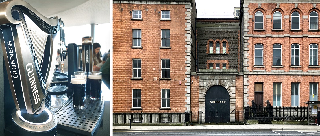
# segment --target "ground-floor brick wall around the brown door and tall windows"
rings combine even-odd
[[[307,106],[303,103],[309,101],[309,84],[318,83],[319,76],[289,76],[289,75],[252,75],[249,77],[249,105],[252,106],[251,101],[254,100],[254,83],[263,82],[263,102],[269,100],[273,105],[273,83],[281,83],[281,100],[282,106],[291,106],[291,83],[300,83],[300,106]],[[318,85],[319,86],[319,85]]]

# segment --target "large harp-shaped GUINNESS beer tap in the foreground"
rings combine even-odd
[[[56,134],[57,117],[44,101],[58,50],[52,39],[59,29],[57,17],[46,18],[25,1],[0,1],[0,44],[16,106],[14,135]]]

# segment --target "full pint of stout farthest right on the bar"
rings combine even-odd
[[[89,72],[88,80],[90,84],[90,94],[92,100],[101,99],[101,72]]]

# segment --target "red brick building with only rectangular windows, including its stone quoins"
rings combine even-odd
[[[113,1],[113,112],[190,110],[194,0]]]

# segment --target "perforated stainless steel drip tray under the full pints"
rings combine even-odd
[[[92,136],[101,122],[103,115],[104,100],[101,96],[100,100],[91,100],[90,96],[86,96],[84,102],[85,107],[74,108],[72,99],[64,105],[60,110],[56,111],[59,129],[68,132],[75,132],[80,135]]]

